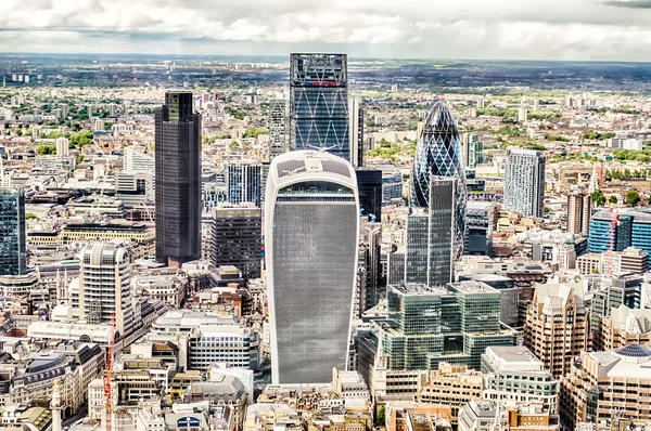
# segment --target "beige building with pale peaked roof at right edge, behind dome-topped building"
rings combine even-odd
[[[607,352],[628,344],[651,344],[651,309],[629,309],[622,304],[610,316],[599,316],[592,337],[593,350]]]

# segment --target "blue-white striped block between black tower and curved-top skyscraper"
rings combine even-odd
[[[261,173],[263,165],[258,162],[229,164],[226,178],[228,201],[253,203],[259,207],[263,201]]]

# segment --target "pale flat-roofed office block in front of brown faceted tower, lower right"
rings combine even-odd
[[[487,348],[482,376],[485,400],[538,404],[559,412],[559,381],[524,345]]]

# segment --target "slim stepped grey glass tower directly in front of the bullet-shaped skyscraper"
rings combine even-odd
[[[432,175],[430,208],[416,208],[407,217],[407,283],[445,286],[452,280],[457,192],[456,179]]]

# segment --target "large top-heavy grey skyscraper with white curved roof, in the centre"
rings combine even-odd
[[[327,382],[348,363],[358,203],[355,170],[342,158],[303,151],[271,161],[265,259],[273,383]]]

